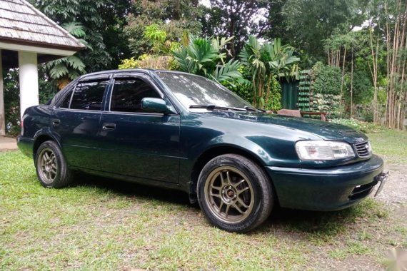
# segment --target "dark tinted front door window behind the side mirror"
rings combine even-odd
[[[145,112],[141,108],[143,98],[161,98],[149,83],[139,78],[116,78],[111,95],[111,111]]]

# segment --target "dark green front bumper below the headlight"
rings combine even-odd
[[[382,183],[383,160],[369,160],[335,168],[266,167],[283,208],[340,210],[366,198]]]

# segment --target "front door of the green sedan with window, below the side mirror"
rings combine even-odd
[[[180,116],[141,108],[142,98],[166,99],[164,94],[149,77],[136,73],[114,76],[109,93],[110,103],[100,123],[102,168],[111,173],[177,183]]]

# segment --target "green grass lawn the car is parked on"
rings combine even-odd
[[[369,137],[388,163],[407,164],[406,132]],[[0,153],[0,270],[378,270],[407,247],[405,219],[369,198],[333,213],[276,210],[234,234],[184,193],[90,177],[45,189],[32,160]]]

